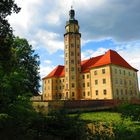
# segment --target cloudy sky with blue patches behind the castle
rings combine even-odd
[[[40,56],[41,77],[64,64],[63,34],[71,5],[82,34],[82,59],[113,49],[140,70],[140,0],[15,1],[21,11],[9,21],[15,35],[26,38]]]

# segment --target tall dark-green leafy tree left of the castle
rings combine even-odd
[[[26,39],[15,37],[7,16],[18,13],[14,0],[0,1],[0,110],[19,95],[37,95],[39,58]]]

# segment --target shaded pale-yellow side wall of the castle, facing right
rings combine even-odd
[[[114,99],[139,98],[137,72],[116,65],[112,65],[111,70]]]

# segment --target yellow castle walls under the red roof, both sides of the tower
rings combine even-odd
[[[81,73],[79,80],[81,100],[99,99],[139,99],[137,72],[116,65],[93,68]],[[65,78],[47,78],[43,80],[43,99],[60,100],[69,98],[65,92]]]

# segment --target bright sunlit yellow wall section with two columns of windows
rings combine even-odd
[[[91,69],[92,99],[112,99],[110,65]]]

